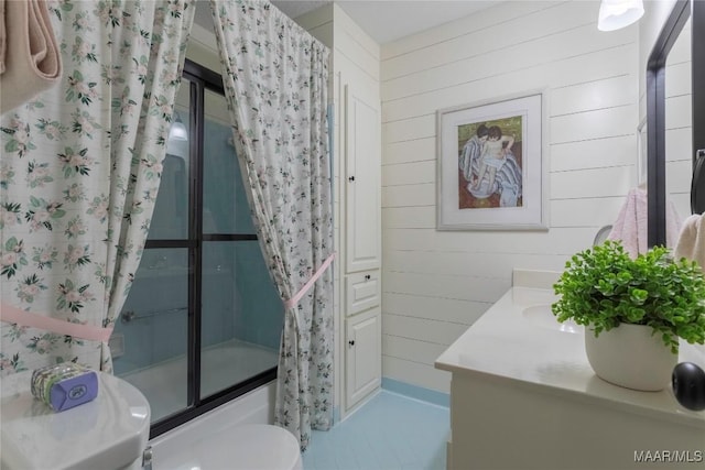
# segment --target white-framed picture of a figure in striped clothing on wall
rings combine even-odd
[[[544,95],[437,111],[438,230],[547,230]]]

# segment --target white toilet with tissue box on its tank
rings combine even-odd
[[[129,382],[98,372],[96,400],[55,413],[30,392],[32,371],[2,379],[1,470],[139,470],[150,405]],[[229,426],[154,455],[152,470],[302,470],[299,441],[272,425]]]

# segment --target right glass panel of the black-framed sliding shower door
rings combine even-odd
[[[276,367],[283,308],[262,258],[223,95],[205,91],[200,395]]]

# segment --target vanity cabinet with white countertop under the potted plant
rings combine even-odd
[[[448,469],[703,468],[705,412],[670,386],[599,379],[582,327],[562,329],[554,300],[512,287],[436,360],[452,373]],[[680,361],[705,364],[705,350],[681,342]]]

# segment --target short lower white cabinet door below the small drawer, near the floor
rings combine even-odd
[[[346,408],[378,389],[382,376],[381,311],[372,308],[346,320]]]

